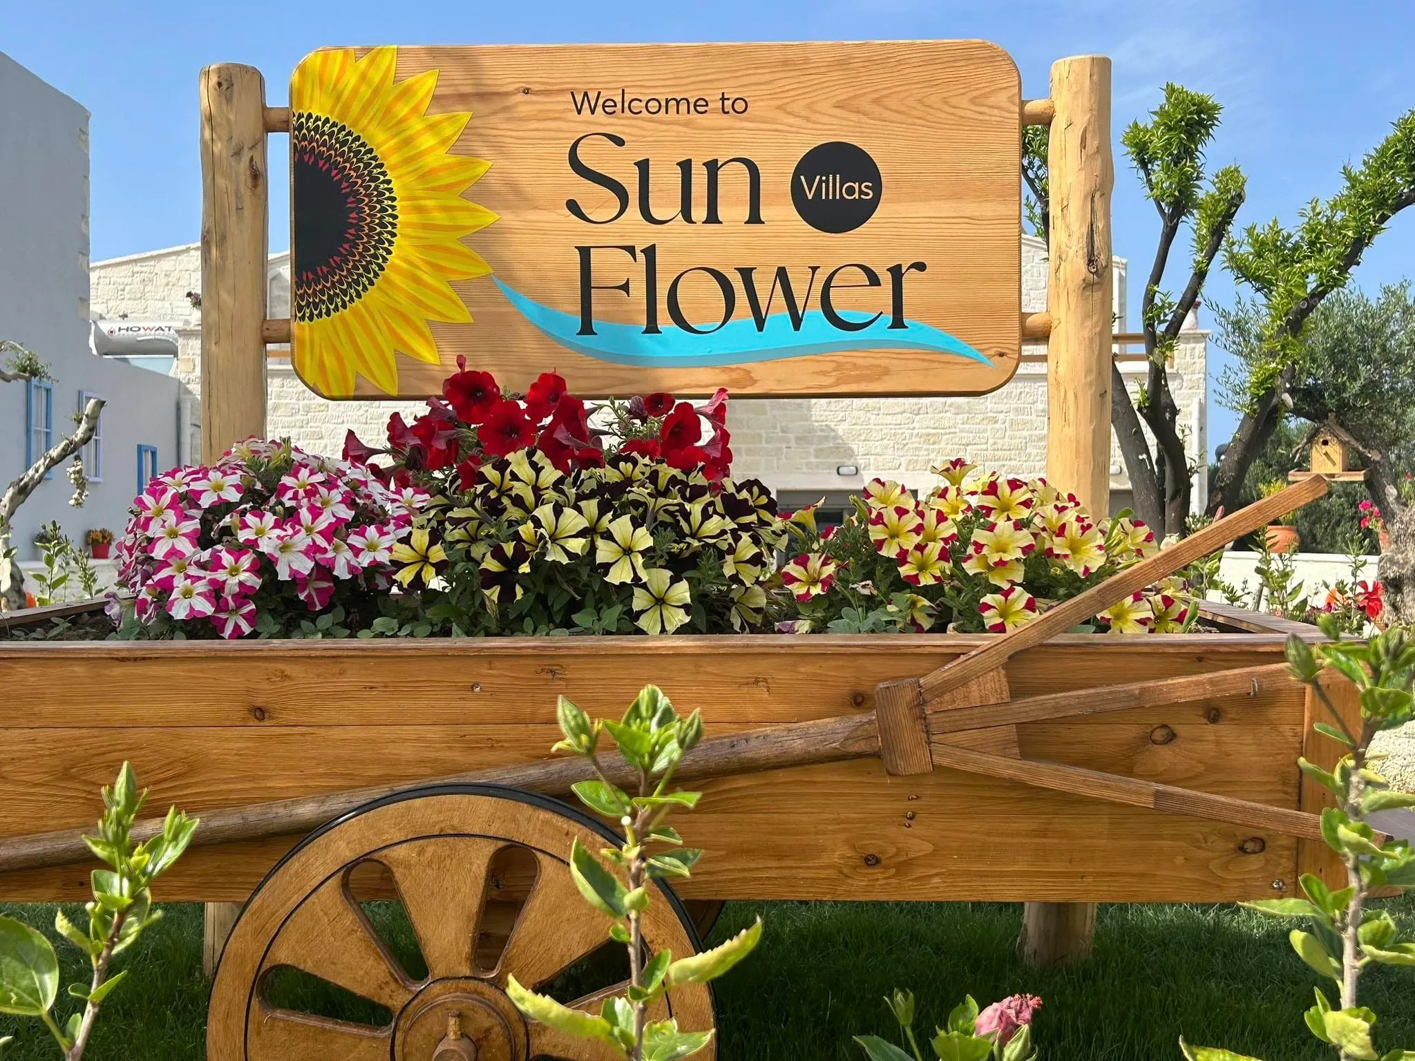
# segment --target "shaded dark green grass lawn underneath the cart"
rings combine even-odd
[[[1415,931],[1415,897],[1391,910]],[[40,928],[54,915],[42,905],[6,912]],[[91,1061],[202,1057],[201,908],[166,912],[123,961],[134,972],[105,1006]],[[1266,1061],[1333,1057],[1302,1023],[1317,978],[1288,946],[1292,924],[1234,907],[1102,907],[1094,959],[1046,973],[1015,956],[1017,905],[737,903],[713,939],[757,912],[767,921],[761,948],[717,985],[724,1061],[862,1061],[850,1036],[893,1036],[880,997],[896,986],[918,995],[923,1026],[945,1017],[965,993],[982,1004],[1015,992],[1040,995],[1037,1041],[1057,1061],[1177,1058],[1180,1033]],[[75,920],[81,914],[71,911]],[[64,983],[86,983],[76,951],[64,944],[61,955]],[[1370,969],[1361,1000],[1380,1013],[1380,1047],[1415,1047],[1415,972]],[[17,1027],[0,1017],[0,1034],[18,1036],[7,1061],[57,1057],[38,1023]]]

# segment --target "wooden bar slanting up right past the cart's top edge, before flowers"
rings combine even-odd
[[[1124,572],[1112,574],[1105,581],[1078,593],[1075,597],[1061,601],[1043,613],[1040,618],[1009,630],[1006,634],[999,635],[996,641],[969,652],[965,658],[924,675],[920,679],[924,690],[924,703],[928,705],[949,689],[957,689],[965,682],[971,682],[988,671],[1002,666],[1016,652],[1032,645],[1040,645],[1043,641],[1065,630],[1071,630],[1071,627],[1080,622],[1085,622],[1097,613],[1105,611],[1111,605],[1173,574],[1199,557],[1207,556],[1242,535],[1257,530],[1259,526],[1265,526],[1274,516],[1298,509],[1326,492],[1327,484],[1320,478],[1286,487],[1272,497],[1241,508],[1210,523],[1203,530],[1183,538],[1166,549],[1160,549],[1132,567],[1126,567]]]

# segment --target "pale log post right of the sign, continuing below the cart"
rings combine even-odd
[[[1051,65],[1047,313],[1047,480],[1097,516],[1111,505],[1111,61]],[[1032,965],[1087,958],[1092,903],[1027,903],[1022,953]]]

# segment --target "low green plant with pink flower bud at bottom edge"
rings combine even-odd
[[[856,1036],[870,1061],[924,1061],[914,1037],[914,993],[896,989],[884,999],[899,1021],[903,1043],[896,1047],[879,1036]],[[1041,1009],[1034,995],[1013,995],[979,1011],[969,995],[948,1014],[947,1026],[934,1030],[930,1045],[940,1061],[1037,1061],[1032,1045],[1032,1017]]]

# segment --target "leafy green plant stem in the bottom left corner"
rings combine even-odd
[[[143,843],[133,843],[132,828],[147,799],[139,791],[133,768],[125,763],[112,788],[103,788],[103,816],[98,836],[83,842],[110,869],[93,870],[93,898],[83,905],[89,924],[85,932],[64,911],[54,915],[55,931],[89,956],[93,976],[88,985],[69,985],[69,995],[83,1003],[61,1026],[54,1016],[59,989],[59,961],[54,946],[23,921],[0,917],[0,1013],[38,1017],[54,1036],[64,1061],[79,1061],[88,1047],[99,1007],[127,976],[113,973],[112,962],[161,918],[153,908],[153,881],[181,857],[197,832],[197,819],[175,806],[167,812],[163,830]],[[0,1040],[0,1047],[13,1036]]]

